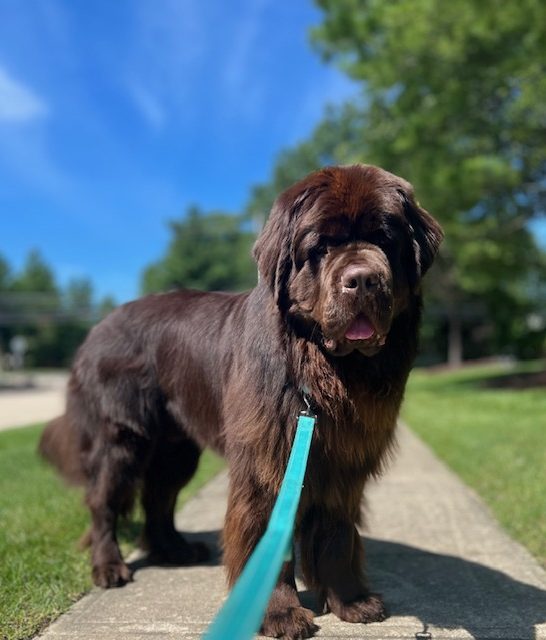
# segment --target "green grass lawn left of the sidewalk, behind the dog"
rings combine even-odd
[[[82,492],[67,488],[35,450],[41,426],[0,433],[0,638],[37,633],[91,587]],[[223,466],[206,452],[179,506]],[[137,516],[138,517],[138,516]],[[124,527],[122,548],[133,540]],[[123,539],[125,537],[125,539]]]

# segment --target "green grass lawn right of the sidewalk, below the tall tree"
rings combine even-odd
[[[540,364],[416,370],[402,417],[546,566],[546,387],[487,386],[533,369]]]

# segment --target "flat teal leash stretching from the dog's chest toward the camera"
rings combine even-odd
[[[260,628],[283,562],[292,557],[292,536],[303,488],[316,416],[307,394],[267,529],[248,559],[226,602],[203,636],[204,640],[247,640]]]

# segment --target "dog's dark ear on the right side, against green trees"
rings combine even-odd
[[[440,244],[444,239],[444,232],[436,220],[419,205],[413,195],[413,188],[409,183],[399,188],[404,213],[412,233],[417,278],[422,278],[430,269]]]

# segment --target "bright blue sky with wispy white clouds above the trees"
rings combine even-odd
[[[0,0],[0,255],[138,295],[165,222],[240,210],[278,151],[356,94],[308,0]]]

